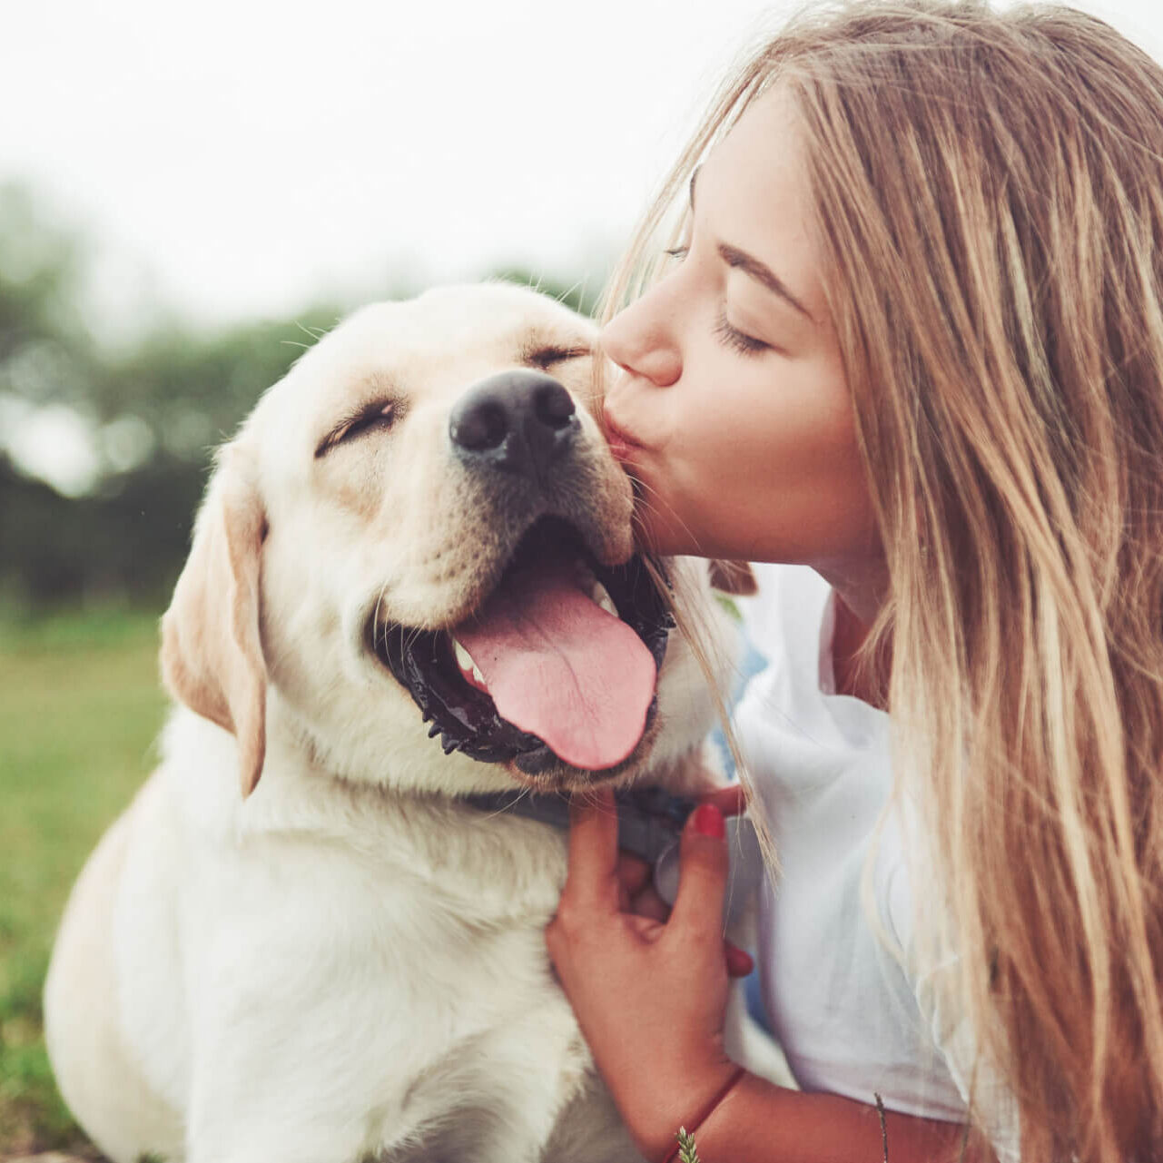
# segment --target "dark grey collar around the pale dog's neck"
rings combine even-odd
[[[570,826],[568,795],[537,795],[528,791],[469,795],[465,801],[480,812],[507,813],[565,830]],[[618,847],[650,864],[675,847],[695,801],[671,795],[661,787],[629,787],[614,792],[618,806]]]

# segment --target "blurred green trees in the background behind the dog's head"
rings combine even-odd
[[[67,407],[85,419],[98,465],[85,495],[63,497],[20,471],[13,434],[0,430],[0,599],[158,607],[185,558],[211,450],[344,307],[209,334],[171,321],[112,349],[84,315],[91,261],[85,238],[45,221],[27,190],[0,186],[0,421]],[[584,283],[521,267],[491,277],[593,308],[597,288]],[[413,293],[395,286],[385,298]]]

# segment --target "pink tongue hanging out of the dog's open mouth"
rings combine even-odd
[[[566,763],[599,771],[637,745],[654,698],[654,656],[577,588],[569,568],[515,573],[454,633],[498,714]]]

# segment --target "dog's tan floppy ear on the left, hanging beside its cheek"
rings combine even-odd
[[[217,463],[162,619],[162,677],[174,698],[233,732],[242,793],[249,795],[266,750],[266,664],[258,629],[266,515],[245,455],[227,445]]]

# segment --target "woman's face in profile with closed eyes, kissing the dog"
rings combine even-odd
[[[825,573],[858,564],[878,542],[785,94],[747,109],[691,195],[685,254],[602,333],[621,369],[611,447],[641,481],[644,538]]]

